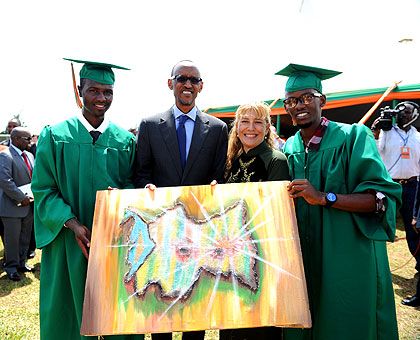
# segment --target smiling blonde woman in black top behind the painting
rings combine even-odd
[[[275,149],[270,108],[265,103],[241,105],[229,133],[226,183],[289,180],[286,156]],[[273,282],[273,284],[276,284]],[[277,327],[226,329],[221,340],[281,339]]]

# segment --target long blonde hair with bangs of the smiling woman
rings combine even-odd
[[[251,102],[248,104],[243,104],[238,107],[235,114],[235,120],[232,122],[232,128],[229,132],[229,141],[228,141],[228,152],[226,159],[226,168],[225,168],[225,177],[228,176],[233,162],[242,154],[243,148],[242,143],[238,137],[238,131],[236,128],[237,123],[241,120],[242,116],[247,113],[255,113],[257,118],[262,118],[266,123],[266,126],[270,124],[270,107],[265,102]],[[265,140],[268,143],[270,148],[275,148],[274,136],[271,133],[271,130],[268,129],[267,134],[265,135]]]

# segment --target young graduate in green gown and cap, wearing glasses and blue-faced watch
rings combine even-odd
[[[312,315],[285,339],[398,339],[386,241],[394,240],[401,187],[363,125],[322,117],[321,80],[339,72],[290,64],[284,106],[300,131],[283,148],[293,181]]]

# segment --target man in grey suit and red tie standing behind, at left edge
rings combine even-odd
[[[28,152],[31,134],[16,127],[11,144],[0,153],[0,217],[4,224],[4,268],[10,280],[20,281],[20,272],[32,271],[25,260],[33,223],[29,198],[18,187],[29,184],[34,157]]]

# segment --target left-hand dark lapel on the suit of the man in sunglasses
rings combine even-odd
[[[162,134],[162,138],[165,141],[169,155],[171,156],[171,159],[175,164],[175,169],[179,177],[181,178],[181,156],[179,155],[178,138],[176,136],[175,119],[172,108],[166,111],[164,115],[160,118],[159,129]]]

